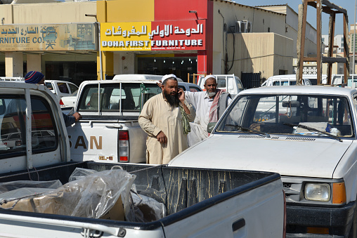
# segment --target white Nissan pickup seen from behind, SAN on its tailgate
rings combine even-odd
[[[145,163],[148,135],[139,126],[138,116],[146,100],[162,92],[157,86],[162,77],[119,76],[84,81],[79,86],[74,108],[82,119],[67,128],[72,160]],[[186,91],[200,91],[197,85],[183,81],[178,86]]]

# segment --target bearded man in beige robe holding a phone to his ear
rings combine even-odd
[[[150,98],[139,115],[138,122],[148,133],[146,163],[167,164],[188,148],[189,122],[195,119],[195,110],[178,90],[174,74],[162,77],[162,93]]]

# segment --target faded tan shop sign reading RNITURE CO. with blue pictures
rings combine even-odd
[[[0,51],[97,51],[94,23],[1,25]]]

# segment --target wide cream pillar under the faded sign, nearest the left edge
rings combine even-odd
[[[22,52],[5,53],[5,77],[24,77]]]

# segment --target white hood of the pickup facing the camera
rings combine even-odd
[[[282,176],[332,178],[353,140],[212,135],[178,154],[169,166],[271,171]]]

